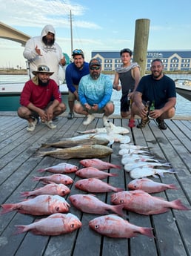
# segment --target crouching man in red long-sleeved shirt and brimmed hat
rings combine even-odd
[[[66,110],[66,105],[61,102],[61,93],[58,85],[50,76],[53,72],[46,65],[39,65],[37,71],[33,71],[33,79],[27,81],[21,92],[18,115],[27,119],[27,131],[34,131],[38,123],[38,117],[50,129],[56,128],[53,118]]]

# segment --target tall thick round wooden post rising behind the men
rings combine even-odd
[[[138,62],[138,65],[140,65],[141,77],[144,76],[146,70],[149,30],[150,19],[136,20],[133,62]]]

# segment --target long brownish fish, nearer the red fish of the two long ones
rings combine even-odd
[[[72,148],[56,148],[53,151],[38,151],[37,157],[55,157],[58,159],[107,157],[113,149],[106,145],[78,145]]]

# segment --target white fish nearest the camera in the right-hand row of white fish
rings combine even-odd
[[[130,177],[132,179],[140,179],[140,178],[149,177],[149,176],[157,177],[155,174],[158,174],[161,177],[164,177],[164,173],[175,174],[175,170],[174,169],[168,169],[168,170],[154,169],[154,168],[147,168],[147,167],[135,168],[132,171],[130,171]]]

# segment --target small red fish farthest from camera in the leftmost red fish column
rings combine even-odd
[[[39,172],[50,171],[56,174],[70,174],[78,170],[78,166],[72,165],[70,163],[59,163],[58,165],[53,165],[44,169],[39,169]]]

